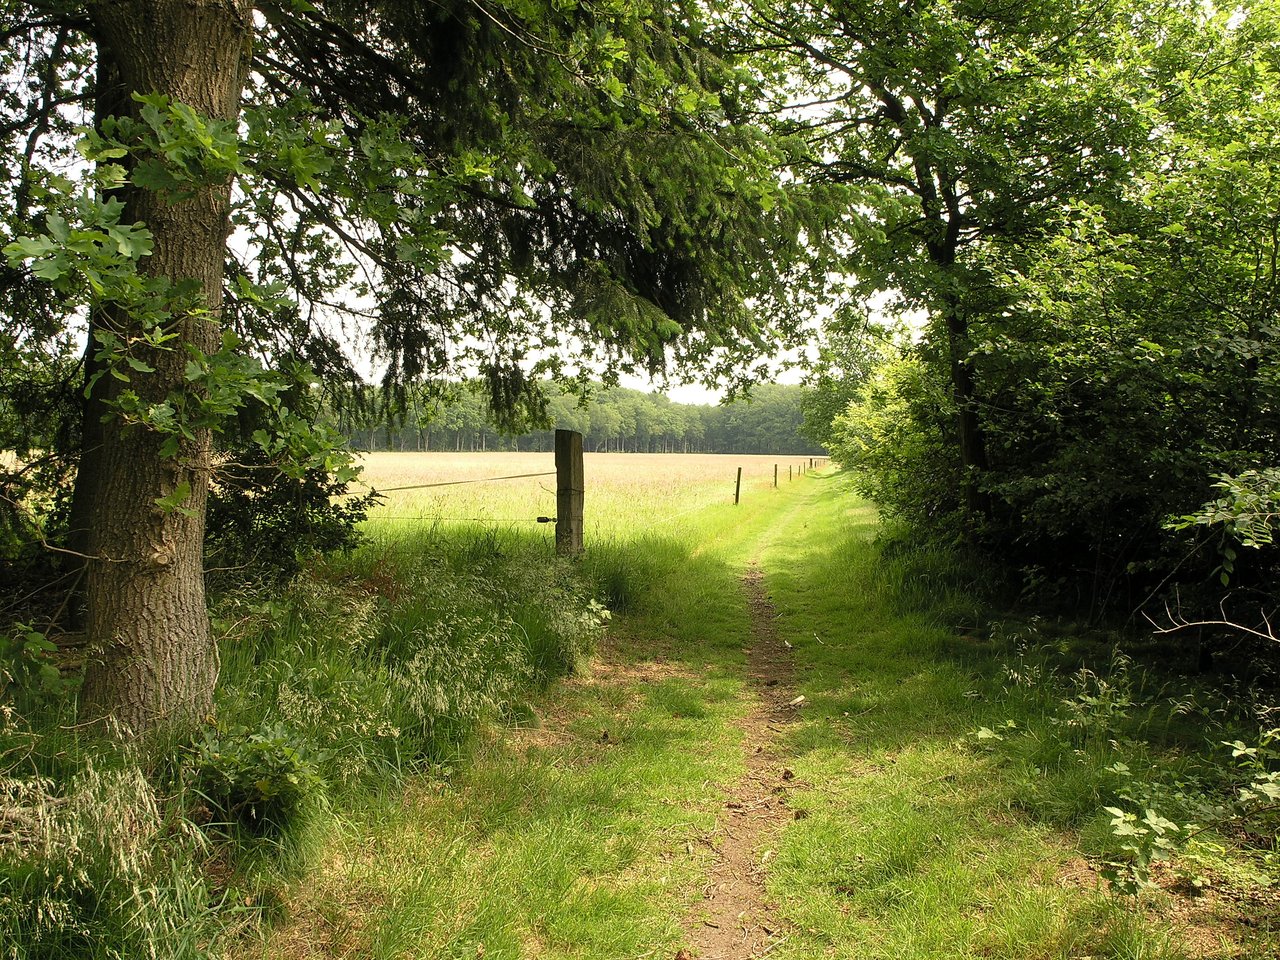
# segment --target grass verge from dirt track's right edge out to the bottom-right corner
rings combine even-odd
[[[1007,635],[943,626],[980,621],[972,594],[945,588],[973,571],[934,562],[932,586],[904,582],[919,558],[884,557],[872,508],[838,475],[813,490],[806,525],[764,554],[808,698],[788,745],[801,819],[769,878],[792,925],[776,956],[1272,955],[1251,952],[1276,946],[1251,927],[1261,915],[1198,910],[1156,884],[1107,893],[1100,877],[1123,854],[1103,812],[1124,803],[1115,771],[1185,769],[1203,735],[1161,722],[1139,740],[1129,721],[1157,710],[1130,716],[1103,667],[1012,682]]]

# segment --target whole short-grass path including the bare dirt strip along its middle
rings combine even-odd
[[[602,549],[591,668],[351,812],[242,955],[1179,956],[965,745],[989,664],[893,607],[873,530],[819,475]]]

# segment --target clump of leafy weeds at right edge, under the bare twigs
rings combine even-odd
[[[1071,669],[1036,625],[996,634],[1012,645],[992,704],[1004,718],[970,744],[1011,768],[1012,806],[1078,829],[1119,893],[1156,890],[1156,865],[1175,859],[1193,888],[1242,856],[1272,882],[1280,732],[1258,726],[1268,708],[1175,689],[1115,648]],[[1257,836],[1268,840],[1240,842]]]

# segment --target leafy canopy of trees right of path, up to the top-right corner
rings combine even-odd
[[[1047,59],[1015,58],[1037,64],[1032,100],[1001,100],[1018,72],[991,73],[989,88],[964,81],[982,123],[963,136],[1021,152],[969,169],[960,134],[940,134],[964,161],[963,275],[920,274],[923,338],[864,378],[833,443],[918,531],[954,536],[978,515],[977,541],[1087,609],[1133,611],[1178,584],[1215,607],[1224,584],[1231,603],[1274,603],[1274,552],[1247,562],[1230,524],[1179,517],[1217,489],[1256,486],[1222,477],[1256,481],[1280,440],[1275,9],[1068,6],[974,33],[1010,56],[1053,26],[1036,47]],[[1089,19],[1066,36],[1073,17]],[[936,86],[960,83],[965,63]],[[991,177],[1009,182],[982,187]],[[963,342],[937,307],[952,301],[969,305]],[[951,425],[965,404],[982,462]]]

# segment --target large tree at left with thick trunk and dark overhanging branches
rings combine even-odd
[[[392,379],[470,362],[503,408],[573,353],[740,369],[794,314],[803,218],[698,4],[47,0],[0,27],[5,291],[58,293],[14,339],[88,325],[84,701],[129,728],[210,704],[215,431],[255,407],[269,453],[326,456],[260,360],[349,375],[360,324]]]

